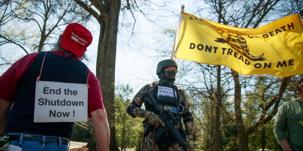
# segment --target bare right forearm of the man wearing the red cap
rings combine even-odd
[[[105,109],[97,109],[90,113],[93,119],[93,130],[98,151],[109,150],[109,127]]]

